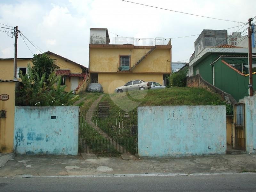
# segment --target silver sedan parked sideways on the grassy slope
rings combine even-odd
[[[149,89],[149,88],[150,88],[150,86],[147,85],[147,82],[145,82],[143,80],[133,80],[133,81],[127,82],[124,86],[117,87],[115,89],[115,92],[121,93],[121,92],[125,92],[125,91],[145,90],[145,89]]]

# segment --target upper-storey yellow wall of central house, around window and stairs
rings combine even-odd
[[[121,48],[91,48],[90,49],[90,71],[91,72],[116,72],[119,67],[119,55],[131,55],[131,67],[135,64],[132,61],[141,52],[148,52],[150,49],[121,49]],[[146,57],[134,72],[162,72],[170,73],[170,49],[155,49]],[[144,55],[144,54],[143,54]],[[141,57],[139,57],[141,58]],[[139,60],[139,59],[138,59]],[[167,61],[168,60],[168,61]],[[137,60],[136,60],[137,61]]]

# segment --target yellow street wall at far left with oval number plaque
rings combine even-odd
[[[0,100],[0,111],[6,111],[6,118],[0,118],[0,153],[12,153],[15,110],[15,82],[0,82],[0,95],[8,94],[9,99]]]

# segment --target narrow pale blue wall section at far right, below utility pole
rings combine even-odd
[[[245,147],[248,153],[256,153],[256,96],[244,97]]]

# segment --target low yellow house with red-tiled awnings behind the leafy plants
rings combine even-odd
[[[67,85],[65,91],[69,92],[74,90],[74,92],[79,92],[86,88],[86,78],[88,74],[88,68],[80,65],[72,60],[64,58],[53,52],[45,52],[55,61],[55,64],[60,67],[56,71],[57,75],[62,76],[62,84]],[[23,74],[28,72],[28,64],[32,67],[32,58],[18,58],[17,59],[17,78],[20,81],[19,72]],[[11,59],[0,59],[0,79],[11,80],[13,79],[14,69],[13,69],[13,58]]]

